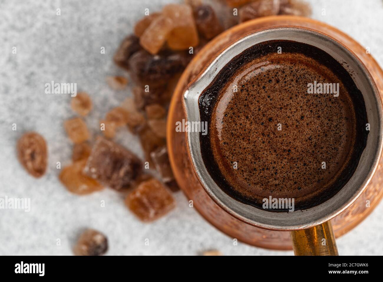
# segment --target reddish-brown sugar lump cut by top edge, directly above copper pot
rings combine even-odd
[[[261,16],[277,15],[280,8],[280,0],[259,0],[243,6],[239,9],[239,21],[252,20]]]

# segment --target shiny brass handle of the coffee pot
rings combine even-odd
[[[330,221],[290,232],[295,256],[338,256]]]

